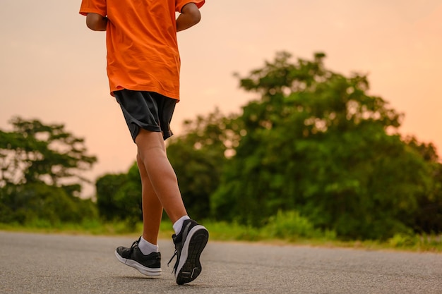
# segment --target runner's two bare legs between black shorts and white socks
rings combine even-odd
[[[157,244],[162,208],[174,223],[187,214],[162,134],[141,129],[136,137],[137,164],[143,185],[143,238]]]

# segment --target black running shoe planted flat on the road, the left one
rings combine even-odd
[[[141,239],[141,237],[140,237]],[[117,259],[129,267],[138,269],[141,274],[146,276],[160,276],[161,275],[161,254],[160,252],[152,252],[150,255],[143,255],[138,242],[140,239],[133,242],[130,248],[120,246],[115,250]]]

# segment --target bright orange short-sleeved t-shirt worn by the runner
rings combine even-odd
[[[157,92],[179,99],[180,59],[175,12],[205,0],[83,0],[80,13],[107,16],[110,92]]]

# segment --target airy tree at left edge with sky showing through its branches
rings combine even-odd
[[[88,181],[81,173],[97,158],[86,154],[83,138],[66,132],[63,124],[44,125],[20,117],[11,119],[11,124],[12,132],[0,130],[0,187]]]

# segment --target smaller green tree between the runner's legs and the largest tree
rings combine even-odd
[[[210,195],[220,183],[226,155],[235,147],[230,118],[216,109],[184,122],[184,135],[169,139],[167,154],[179,181],[186,209],[194,219],[210,216]]]

